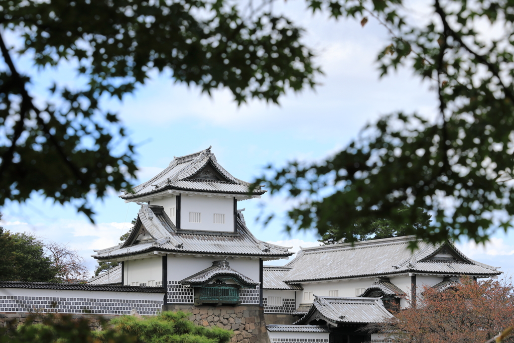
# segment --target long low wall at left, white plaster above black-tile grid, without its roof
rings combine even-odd
[[[162,304],[161,293],[0,289],[0,312],[155,315]]]

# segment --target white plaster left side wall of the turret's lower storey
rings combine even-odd
[[[143,260],[123,262],[123,284],[132,286],[132,282],[146,283],[149,280],[162,281],[162,257],[155,256]]]

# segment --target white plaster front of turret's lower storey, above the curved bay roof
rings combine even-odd
[[[174,257],[174,255],[170,254],[168,255],[168,280],[180,281],[212,266],[213,261],[222,259],[224,258],[197,258],[193,256]],[[245,258],[232,259],[229,257],[227,261],[229,262],[230,267],[237,270],[237,272],[240,272],[255,282],[259,282],[259,260]]]

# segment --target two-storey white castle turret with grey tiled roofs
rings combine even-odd
[[[263,262],[288,248],[256,239],[237,202],[260,187],[232,176],[209,149],[174,157],[168,168],[120,197],[141,206],[128,239],[96,250],[122,262],[123,285],[164,286],[164,305],[262,306]],[[176,307],[175,307],[176,308]]]

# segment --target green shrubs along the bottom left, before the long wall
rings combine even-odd
[[[119,316],[111,321],[100,317],[100,331],[91,330],[87,318],[39,316],[42,320],[37,323],[32,317],[17,328],[12,324],[0,328],[0,343],[227,343],[232,337],[231,331],[193,324],[184,312],[163,312],[151,317]]]

